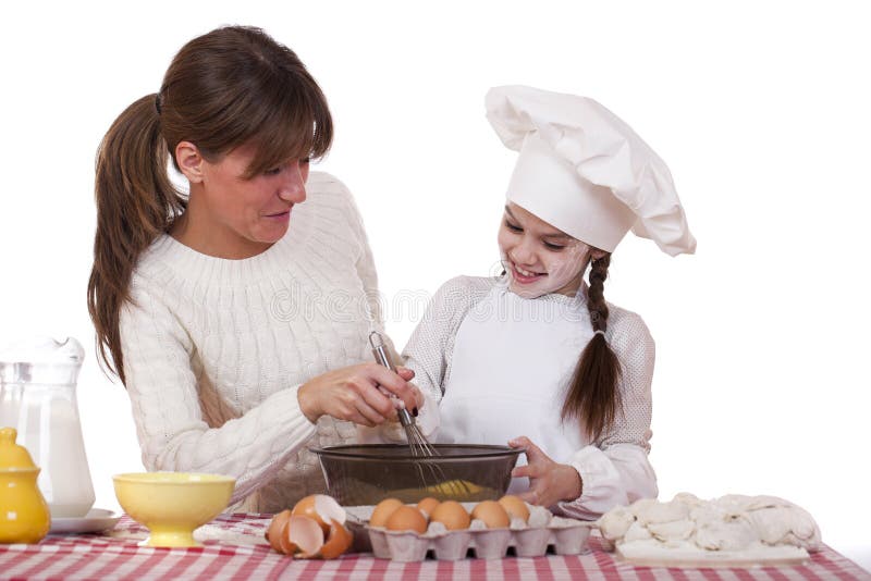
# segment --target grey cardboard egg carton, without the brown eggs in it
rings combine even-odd
[[[465,503],[464,503],[465,504]],[[532,524],[513,519],[510,528],[487,529],[473,520],[468,529],[449,531],[440,523],[430,523],[427,532],[389,531],[381,527],[364,529],[369,533],[376,557],[395,561],[420,561],[427,555],[440,560],[459,560],[468,556],[501,559],[513,548],[518,557],[540,557],[552,549],[557,555],[579,555],[587,551],[591,522],[553,517],[547,509],[535,507],[548,517],[530,515]]]

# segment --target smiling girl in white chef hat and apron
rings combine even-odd
[[[519,151],[499,230],[505,272],[445,283],[405,364],[440,401],[439,442],[525,447],[513,492],[597,518],[657,496],[654,345],[640,317],[604,300],[611,254],[630,228],[672,256],[696,242],[664,162],[596,101],[500,87],[487,111]]]

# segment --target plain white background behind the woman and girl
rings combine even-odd
[[[111,474],[142,465],[86,310],[95,150],[186,40],[242,23],[296,50],[330,99],[336,136],[321,169],[356,194],[389,301],[492,269],[514,156],[484,120],[488,87],[588,95],[624,118],[668,162],[699,240],[672,259],[629,236],[605,286],[657,339],[661,497],[789,498],[871,568],[869,18],[861,2],[703,4],[0,9],[0,337],[85,344],[97,506],[116,507]],[[397,345],[420,314],[389,309]]]

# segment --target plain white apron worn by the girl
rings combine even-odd
[[[554,461],[567,462],[587,441],[578,422],[563,423],[560,412],[591,337],[581,298],[525,299],[504,282],[495,285],[457,330],[438,442],[504,446],[525,435]],[[515,478],[508,492],[528,487],[528,479]]]

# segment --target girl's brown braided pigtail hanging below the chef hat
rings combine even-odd
[[[593,332],[608,331],[608,304],[603,287],[610,264],[611,255],[606,254],[593,260],[590,267],[587,309]],[[619,360],[602,333],[596,333],[580,354],[562,411],[563,420],[579,419],[591,440],[598,438],[614,423],[621,408]]]

